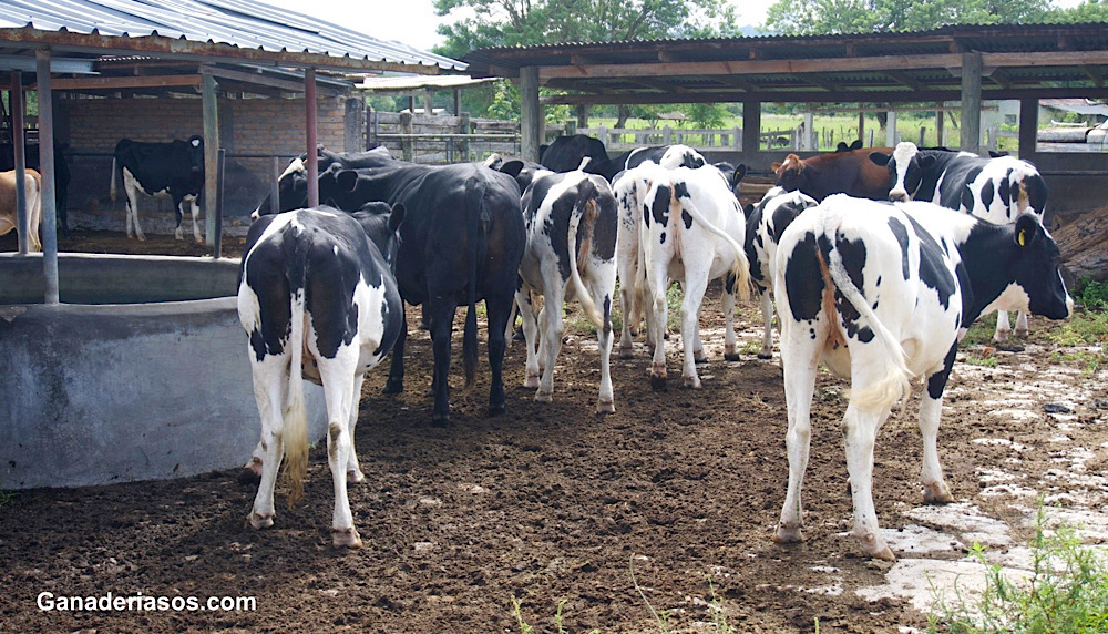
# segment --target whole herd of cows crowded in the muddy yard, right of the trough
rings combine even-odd
[[[1043,180],[1030,164],[945,150],[851,150],[778,167],[780,186],[743,209],[745,170],[709,164],[686,146],[608,157],[595,139],[558,139],[540,164],[493,157],[427,166],[383,147],[320,149],[319,200],[307,205],[304,157],[279,178],[277,207],[264,201],[247,235],[238,311],[249,335],[263,433],[250,463],[260,485],[249,515],[273,524],[278,467],[290,501],[301,492],[307,431],[300,377],[327,401],[335,485],[334,543],[360,545],[347,482],[363,474],[353,450],[365,375],[390,351],[386,392],[403,389],[404,304],[422,305],[434,370],[432,423],[449,421],[451,327],[466,307],[462,358],[476,365],[475,304],[484,300],[492,370],[490,413],[505,411],[502,362],[517,308],[527,346],[525,385],[553,395],[563,304],[577,299],[596,327],[596,410],[615,410],[608,357],[619,280],[620,356],[645,319],[652,384],[667,382],[666,295],[684,299],[683,379],[699,388],[699,316],[705,290],[722,280],[725,356],[737,359],[735,295],[762,297],[772,350],[777,300],[788,406],[789,487],[774,539],[802,539],[800,490],[811,437],[817,367],[851,380],[844,416],[854,532],[864,551],[894,559],[878,530],[871,493],[878,429],[912,382],[925,384],[920,429],[929,502],[951,501],[937,454],[943,391],[957,341],[983,313],[1024,310],[1051,319],[1073,308],[1058,247],[1044,228]],[[926,201],[926,202],[924,202]],[[542,308],[535,311],[535,299]],[[299,368],[299,370],[298,370]],[[299,374],[299,376],[298,376]]]

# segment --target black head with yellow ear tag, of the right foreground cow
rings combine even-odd
[[[1014,255],[1006,262],[1012,284],[996,300],[1009,309],[1023,308],[1050,319],[1065,319],[1074,309],[1074,299],[1061,279],[1058,245],[1033,212],[1004,226],[1006,239],[1014,243]],[[1009,243],[1009,244],[1012,244]],[[1018,300],[1018,301],[1016,301]],[[1017,306],[1023,304],[1026,306]]]

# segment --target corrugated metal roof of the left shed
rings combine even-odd
[[[0,29],[184,39],[464,70],[466,64],[255,0],[3,0]]]

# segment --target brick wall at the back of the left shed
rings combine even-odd
[[[352,103],[348,104],[347,102]],[[224,188],[226,227],[249,224],[246,217],[269,191],[273,160],[281,167],[305,150],[304,99],[219,98],[219,142],[227,152]],[[329,149],[363,150],[365,110],[357,96],[317,100],[319,141]],[[199,95],[147,99],[61,99],[59,139],[70,144],[70,224],[123,231],[123,194],[116,184],[109,195],[112,151],[121,139],[167,142],[203,134]],[[140,218],[145,233],[173,233],[175,219],[168,198],[142,198]],[[202,213],[203,217],[203,213]],[[245,218],[245,219],[244,219]],[[187,216],[183,224],[191,231]]]

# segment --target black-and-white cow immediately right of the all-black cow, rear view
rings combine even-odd
[[[541,172],[523,193],[527,248],[520,264],[515,301],[527,342],[524,387],[535,400],[554,392],[554,365],[562,349],[562,305],[574,297],[596,326],[601,357],[597,412],[615,411],[612,375],[612,298],[616,286],[616,200],[602,176],[582,171]],[[543,296],[536,341],[532,292]],[[536,346],[537,342],[537,355]],[[540,379],[540,372],[542,378]]]

